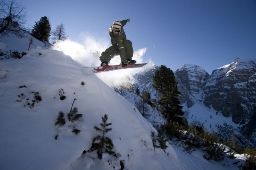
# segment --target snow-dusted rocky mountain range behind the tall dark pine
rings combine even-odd
[[[134,88],[149,91],[152,98],[159,99],[152,88],[156,69],[135,75]],[[175,76],[189,123],[213,129],[224,140],[230,140],[235,132],[242,145],[255,146],[256,128],[251,125],[256,117],[256,59],[238,58],[211,75],[202,67],[185,64]]]

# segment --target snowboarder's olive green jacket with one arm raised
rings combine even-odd
[[[110,27],[110,38],[111,38],[111,44],[113,47],[115,47],[116,50],[119,51],[121,61],[126,62],[126,52],[125,52],[125,47],[124,47],[124,41],[126,41],[126,35],[124,33],[123,27],[126,25],[127,20],[121,21],[122,24],[122,30],[119,34],[115,35],[112,31],[112,26]]]

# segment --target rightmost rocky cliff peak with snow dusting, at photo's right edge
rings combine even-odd
[[[204,104],[236,124],[244,124],[256,110],[256,59],[236,59],[213,71],[203,87]]]

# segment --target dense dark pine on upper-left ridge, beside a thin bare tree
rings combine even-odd
[[[35,26],[33,26],[32,34],[40,41],[49,42],[51,25],[46,16],[40,18],[39,22],[36,22]]]

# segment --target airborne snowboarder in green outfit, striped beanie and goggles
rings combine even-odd
[[[132,60],[132,42],[130,40],[126,40],[126,35],[123,29],[127,22],[130,22],[130,18],[121,22],[115,21],[110,27],[109,35],[112,46],[102,52],[102,56],[100,56],[100,61],[102,61],[101,66],[108,66],[110,60],[115,55],[120,55],[122,67],[126,67],[127,64],[136,63],[135,60]]]

